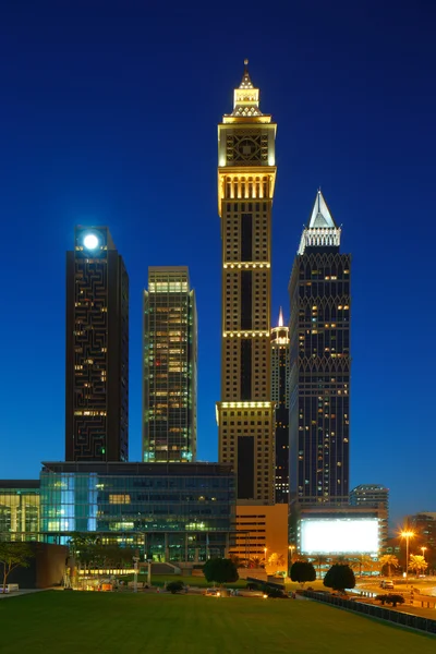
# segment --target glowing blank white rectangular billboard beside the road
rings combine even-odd
[[[376,554],[378,520],[330,519],[301,521],[302,554]]]

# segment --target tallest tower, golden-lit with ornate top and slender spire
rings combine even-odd
[[[245,66],[246,66],[245,62]],[[219,460],[238,474],[238,500],[272,504],[270,397],[271,207],[276,123],[259,110],[245,68],[234,106],[218,125],[218,211],[222,239]]]

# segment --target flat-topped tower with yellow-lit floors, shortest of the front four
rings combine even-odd
[[[197,312],[185,266],[148,268],[143,420],[143,461],[195,461]]]

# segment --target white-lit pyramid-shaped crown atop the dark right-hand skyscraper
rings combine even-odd
[[[299,254],[306,247],[337,247],[340,245],[341,229],[337,226],[320,189],[315,197],[311,218],[303,229]]]

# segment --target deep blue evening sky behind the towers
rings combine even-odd
[[[220,8],[228,13],[220,14]],[[141,456],[142,289],[190,266],[198,455],[217,458],[217,123],[243,59],[278,122],[272,313],[320,185],[352,266],[352,485],[393,522],[435,510],[435,5],[3,1],[0,477],[64,455],[64,271],[108,225],[131,281],[130,455]]]

